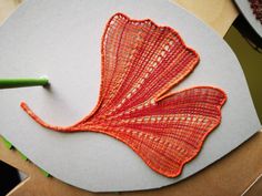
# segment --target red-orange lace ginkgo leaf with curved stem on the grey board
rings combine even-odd
[[[91,114],[60,127],[44,123],[26,103],[22,109],[53,131],[108,134],[130,146],[155,172],[178,176],[220,124],[225,93],[211,86],[167,93],[196,66],[199,55],[173,29],[151,20],[114,14],[101,48],[100,96]]]

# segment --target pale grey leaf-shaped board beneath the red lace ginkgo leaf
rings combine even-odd
[[[97,103],[100,42],[115,12],[174,28],[201,62],[175,90],[214,85],[228,93],[221,125],[181,176],[150,169],[128,146],[97,133],[61,134],[40,127],[19,106],[26,101],[50,124],[70,125]],[[0,29],[0,78],[48,75],[51,90],[0,91],[0,133],[33,163],[71,185],[135,190],[177,183],[219,159],[259,128],[241,66],[225,42],[201,21],[164,0],[29,0]]]

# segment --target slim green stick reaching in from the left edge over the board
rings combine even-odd
[[[0,89],[11,89],[11,87],[27,87],[27,86],[38,86],[48,85],[49,81],[47,78],[39,79],[0,79]]]

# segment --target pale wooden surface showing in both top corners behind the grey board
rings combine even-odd
[[[239,11],[231,0],[170,0],[177,2],[224,37]],[[0,0],[0,24],[22,0]]]

